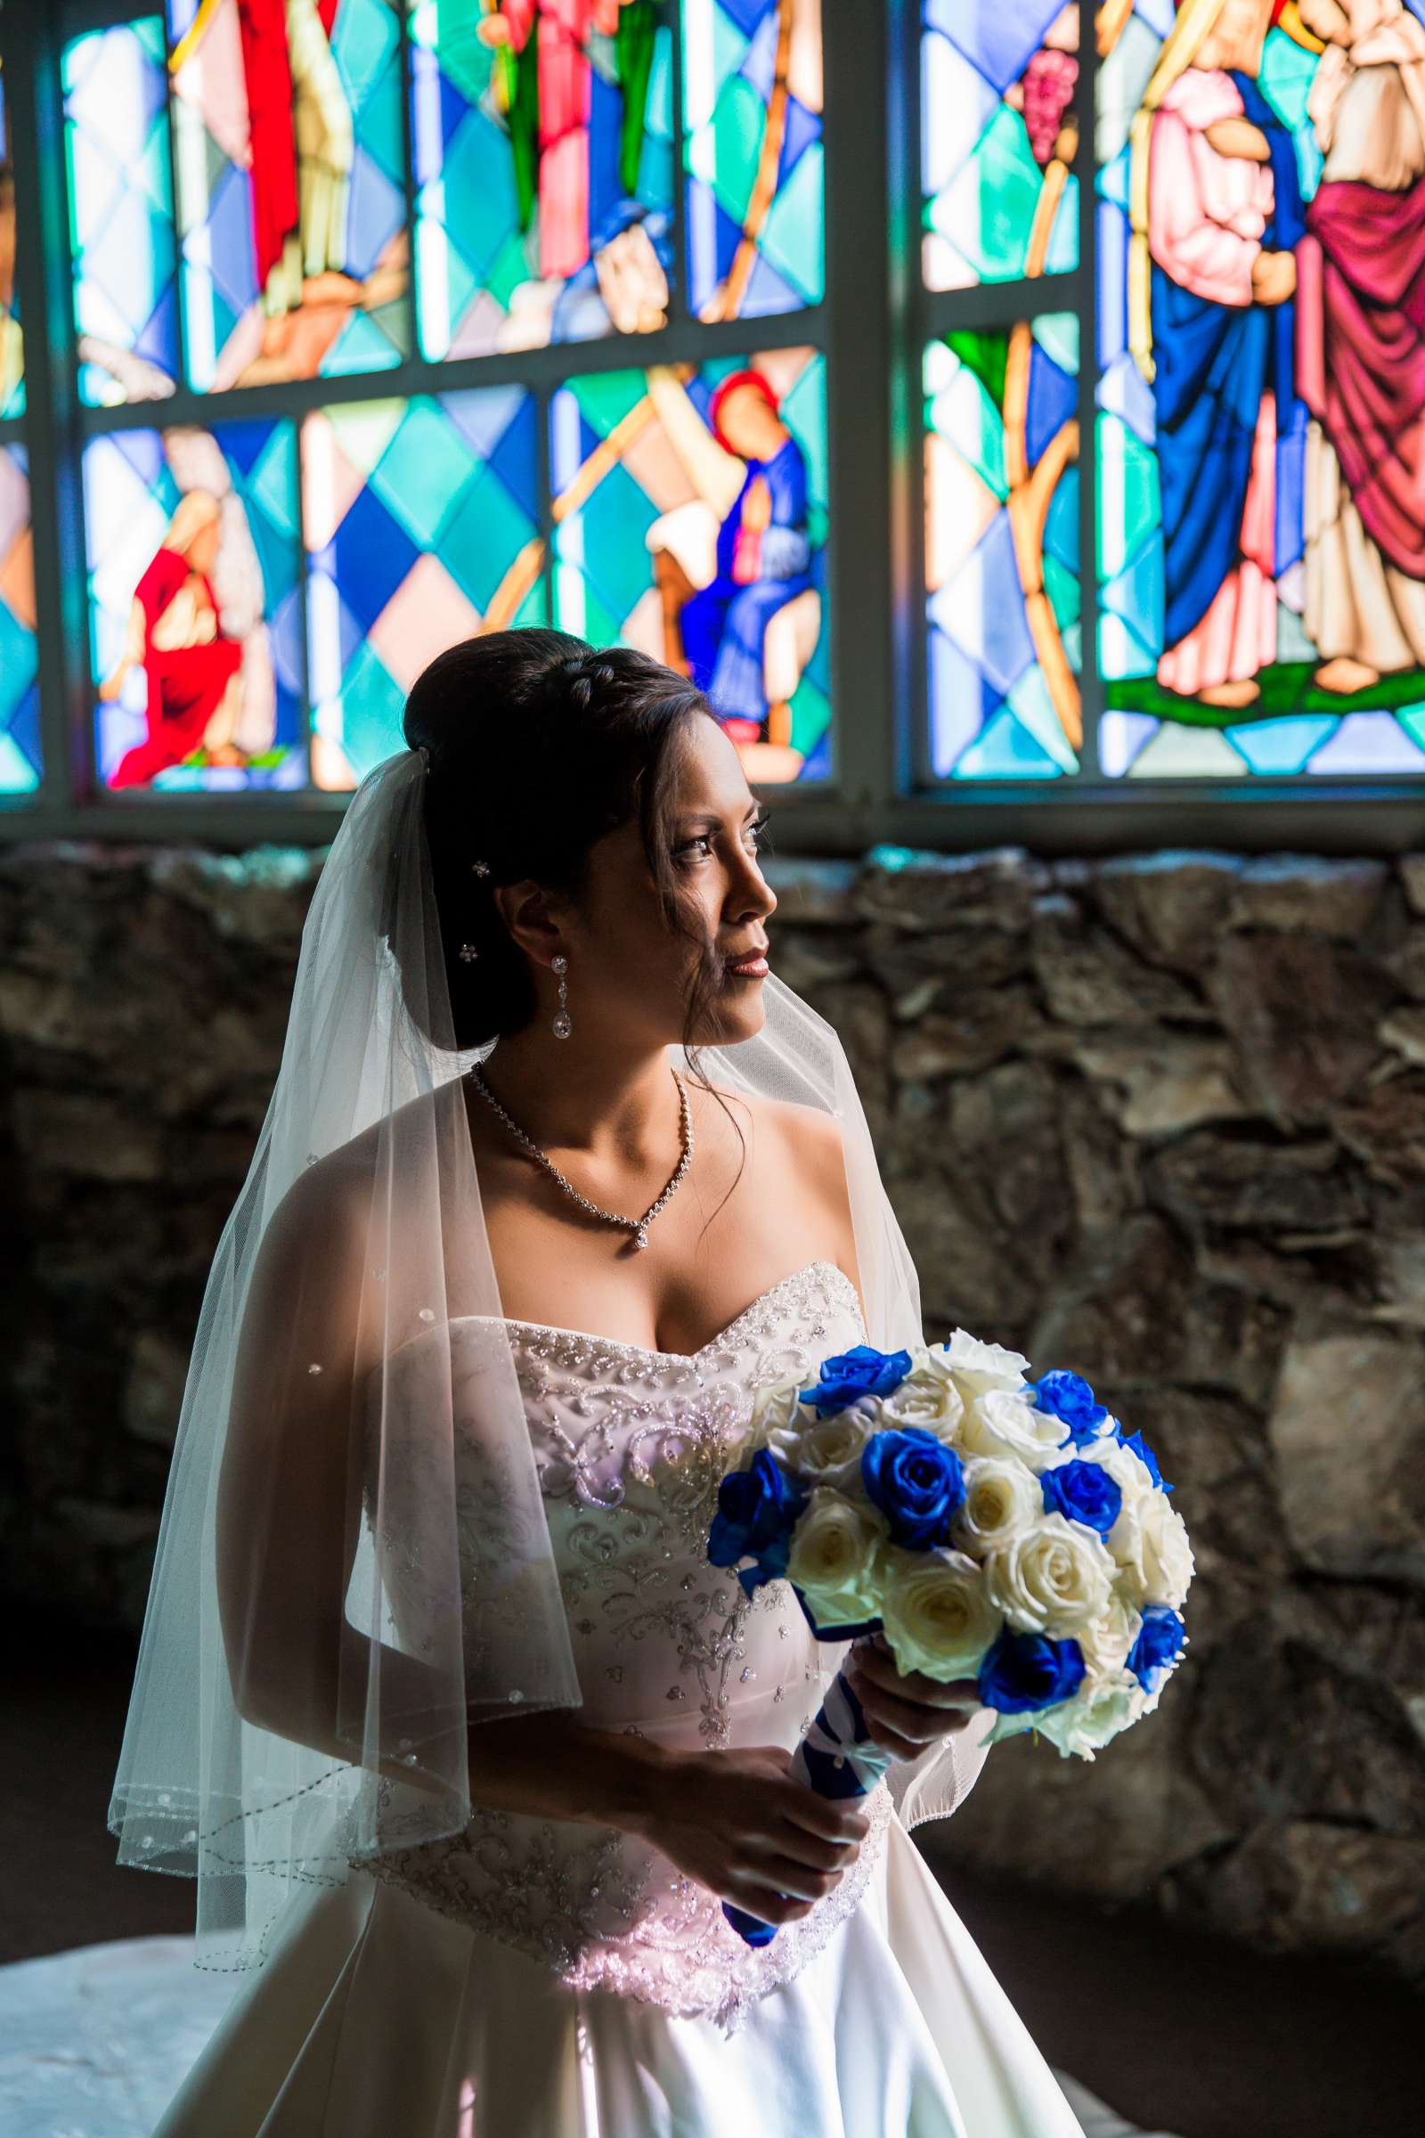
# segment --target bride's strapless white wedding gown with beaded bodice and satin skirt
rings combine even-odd
[[[790,1749],[846,1651],[711,1567],[707,1524],[756,1385],[865,1341],[855,1285],[812,1261],[692,1355],[508,1330],[579,1719]],[[643,1841],[506,1811],[297,1894],[154,2138],[1081,2138],[908,1832],[985,1721],[891,1768],[855,1866],[758,1950]]]

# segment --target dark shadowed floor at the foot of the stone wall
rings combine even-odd
[[[0,1963],[192,1931],[188,1879],[120,1871],[105,1830],[132,1655],[130,1642],[68,1636],[0,1678]],[[919,1837],[931,1864],[934,1834]],[[936,1869],[1049,2063],[1145,2129],[1421,2138],[1425,1999],[1363,1969],[1260,1958],[1145,1909]]]

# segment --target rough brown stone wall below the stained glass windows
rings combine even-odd
[[[320,853],[0,855],[0,1550],[137,1625],[203,1281]],[[1158,1713],[1028,1740],[951,1858],[1425,1982],[1425,857],[771,864],[955,1323],[1158,1450],[1199,1580]]]

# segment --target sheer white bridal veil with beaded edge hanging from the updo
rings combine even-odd
[[[461,1090],[489,1048],[453,1043],[425,776],[419,750],[376,765],[323,866],[184,1390],[109,1830],[122,1864],[197,1877],[199,1967],[259,1965],[303,1886],[459,1832],[472,1723],[581,1704]],[[703,1050],[707,1075],[840,1116],[870,1341],[919,1341],[844,1048],[776,975],[763,1001],[754,1039]],[[453,1385],[447,1330],[472,1315],[489,1343]],[[483,1456],[464,1486],[457,1430]],[[940,1747],[893,1785],[946,1764]]]

